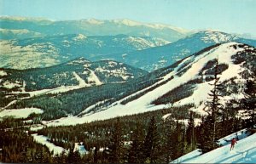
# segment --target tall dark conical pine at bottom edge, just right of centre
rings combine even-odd
[[[160,139],[154,116],[148,124],[148,133],[143,144],[143,162],[155,163],[160,156]]]

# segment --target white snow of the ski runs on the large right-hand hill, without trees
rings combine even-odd
[[[104,120],[104,119],[109,119],[113,118],[116,116],[126,116],[126,115],[132,115],[132,114],[138,114],[138,113],[143,113],[149,110],[160,110],[160,109],[165,109],[170,107],[170,105],[150,105],[150,103],[154,99],[158,99],[160,96],[164,95],[165,93],[169,92],[173,88],[177,88],[180,85],[182,85],[185,82],[189,82],[190,80],[193,80],[195,76],[198,75],[198,73],[201,71],[201,69],[207,64],[208,61],[212,59],[218,58],[218,63],[219,64],[227,64],[229,65],[228,69],[222,72],[222,75],[220,76],[220,81],[224,81],[227,79],[230,79],[233,76],[239,75],[239,73],[242,71],[241,65],[234,65],[231,59],[231,56],[236,54],[239,51],[243,51],[244,48],[234,48],[239,45],[237,42],[228,42],[224,43],[216,48],[212,48],[211,50],[197,55],[197,56],[191,56],[188,59],[183,60],[177,68],[174,71],[171,71],[169,74],[163,77],[163,80],[160,82],[166,81],[168,78],[171,76],[175,76],[171,81],[166,82],[165,84],[161,85],[158,88],[154,88],[154,90],[145,93],[143,96],[139,97],[138,99],[135,99],[126,105],[122,105],[120,102],[123,101],[124,99],[128,99],[132,95],[136,95],[138,93],[143,92],[143,90],[146,90],[147,88],[143,89],[142,91],[138,91],[137,93],[133,93],[132,95],[121,99],[112,105],[109,105],[108,108],[105,110],[96,112],[90,116],[69,116],[65,118],[61,118],[56,120],[55,122],[50,122],[48,126],[59,126],[59,125],[75,125],[79,123],[84,123],[84,122],[93,122],[96,120]],[[189,65],[185,65],[188,61]],[[185,65],[185,66],[183,66]],[[182,76],[177,76],[178,69],[180,67],[183,67],[183,70],[186,68],[189,68],[186,72],[183,73]],[[183,71],[182,70],[182,71]],[[238,77],[239,78],[239,77]],[[157,83],[160,83],[157,82]],[[156,85],[155,83],[154,85]],[[151,87],[153,87],[152,85]],[[148,87],[148,88],[151,88]],[[195,104],[196,107],[195,109],[191,110],[197,110],[201,111],[203,113],[203,108],[205,107],[203,101],[206,100],[207,93],[212,89],[212,86],[208,84],[208,82],[198,84],[197,88],[199,89],[198,91],[195,90],[192,96],[186,99],[182,99],[181,101],[177,102],[175,105],[185,105],[187,103],[194,102],[195,99]]]

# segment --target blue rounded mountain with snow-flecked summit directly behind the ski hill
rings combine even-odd
[[[201,31],[189,37],[172,42],[165,46],[133,51],[126,54],[111,54],[108,58],[124,62],[146,71],[154,71],[191,54],[199,52],[203,48],[224,42],[241,42],[256,46],[255,40],[236,37],[219,31]],[[90,59],[104,59],[106,56],[97,56]]]

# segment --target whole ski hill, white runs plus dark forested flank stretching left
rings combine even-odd
[[[92,122],[184,105],[187,110],[205,115],[205,102],[212,89],[210,83],[216,59],[221,72],[220,82],[225,86],[222,89],[222,102],[227,102],[234,97],[243,98],[241,91],[244,82],[255,71],[255,54],[255,48],[246,44],[217,44],[174,65],[128,82],[106,83],[57,95],[18,99],[15,104],[8,105],[8,108],[37,107],[43,109],[44,115],[50,115],[51,119],[59,117],[55,117],[51,113],[53,111],[61,112],[61,116],[67,116],[63,115],[63,111],[73,113],[73,116],[49,125]]]

